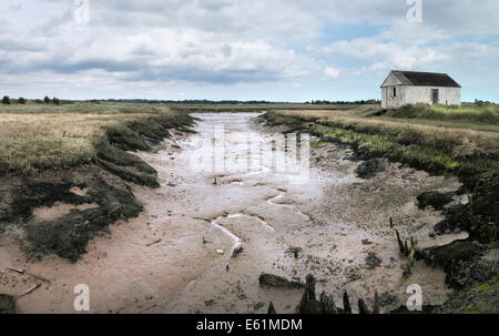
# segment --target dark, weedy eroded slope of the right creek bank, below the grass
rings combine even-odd
[[[357,174],[364,174],[365,179],[376,175],[376,170],[379,160],[399,161],[414,169],[421,169],[432,174],[451,173],[459,177],[464,183],[464,190],[469,190],[471,196],[468,204],[457,204],[445,208],[445,205],[452,201],[452,197],[447,194],[438,192],[429,192],[418,197],[419,207],[424,208],[427,205],[432,205],[436,210],[445,211],[445,220],[435,226],[437,234],[451,233],[457,231],[467,231],[470,235],[467,241],[456,241],[445,246],[427,248],[424,252],[418,251],[416,258],[424,258],[428,265],[440,267],[446,272],[446,282],[449,286],[455,288],[455,294],[449,299],[449,303],[441,307],[425,306],[424,312],[437,312],[438,309],[447,312],[451,307],[460,304],[465,305],[466,296],[462,293],[471,291],[469,288],[476,286],[486,286],[493,279],[498,272],[498,262],[486,261],[483,255],[497,248],[499,240],[499,172],[489,169],[481,169],[480,164],[472,164],[469,160],[462,162],[455,169],[451,165],[446,166],[439,163],[438,160],[431,160],[424,147],[420,147],[421,155],[409,157],[403,150],[391,151],[395,146],[387,145],[387,150],[383,146],[374,146],[369,143],[369,136],[375,138],[377,134],[373,130],[361,130],[354,125],[336,125],[334,121],[322,121],[317,118],[303,118],[294,115],[282,115],[275,112],[268,112],[258,116],[261,124],[269,128],[278,128],[283,133],[287,132],[309,132],[319,139],[320,143],[338,143],[347,145],[354,150],[350,156],[353,160],[365,160],[360,164]],[[336,133],[332,136],[328,131],[333,130]],[[363,133],[366,132],[366,133]],[[366,138],[366,139],[365,139]],[[369,138],[369,139],[368,139]],[[366,142],[363,142],[363,141]],[[385,139],[379,138],[380,144]],[[417,141],[416,141],[417,143]],[[403,143],[400,146],[406,146],[409,150],[411,143]],[[413,147],[417,147],[414,145]],[[479,160],[478,160],[479,159]],[[478,157],[477,162],[483,157]],[[373,161],[376,160],[376,161]],[[489,161],[497,160],[497,157],[487,157]],[[360,176],[363,177],[363,176]],[[459,194],[461,191],[457,191]],[[488,286],[491,296],[498,296],[497,286]],[[490,299],[487,296],[480,296],[477,291],[472,292],[473,307],[490,308]],[[480,301],[482,297],[483,301]],[[492,303],[493,304],[493,303]],[[492,305],[493,306],[493,305]],[[497,303],[496,303],[496,308]],[[485,309],[485,310],[487,310]],[[404,309],[403,309],[404,310]],[[407,310],[407,309],[406,309]],[[454,312],[454,310],[452,310]],[[395,312],[394,312],[395,313]]]

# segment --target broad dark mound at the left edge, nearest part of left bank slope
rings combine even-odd
[[[71,189],[86,189],[77,195]],[[0,201],[3,210],[0,223],[18,223],[26,232],[26,247],[34,257],[57,254],[72,262],[85,252],[88,242],[118,220],[139,215],[142,204],[131,187],[120,177],[98,167],[89,166],[64,172],[59,176],[23,177],[20,185],[7,191]],[[55,202],[68,204],[98,204],[88,210],[72,210],[53,221],[34,222],[33,208],[50,207]],[[2,225],[2,224],[0,224]]]

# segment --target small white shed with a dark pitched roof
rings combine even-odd
[[[381,84],[381,108],[405,104],[461,104],[461,86],[447,73],[390,71]]]

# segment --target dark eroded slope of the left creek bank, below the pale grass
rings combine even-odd
[[[92,164],[33,176],[4,176],[0,180],[0,232],[20,227],[19,238],[28,254],[42,257],[57,254],[77,262],[88,242],[118,220],[138,216],[142,203],[128,182],[157,187],[156,171],[125,151],[152,151],[170,130],[189,130],[193,119],[185,114],[151,116],[105,130],[95,142]],[[37,221],[33,211],[55,203],[74,205],[69,213],[50,221]],[[83,210],[79,205],[89,206]]]

